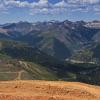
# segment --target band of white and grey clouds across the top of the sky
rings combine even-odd
[[[13,7],[28,8],[31,13],[38,14],[56,14],[61,12],[100,12],[100,0],[61,0],[52,4],[48,0],[39,0],[37,2],[28,2],[21,0],[0,0],[0,10]]]

